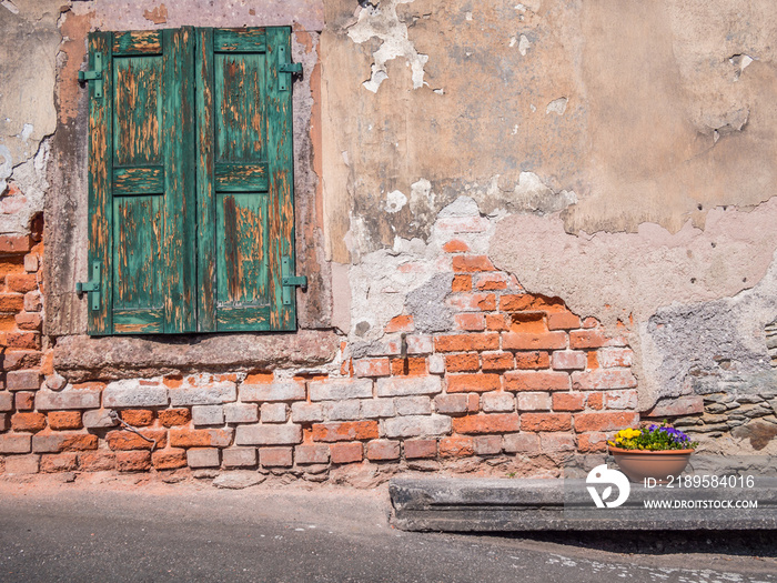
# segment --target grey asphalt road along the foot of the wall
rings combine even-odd
[[[385,487],[0,481],[1,582],[777,582],[768,535],[406,533]]]

